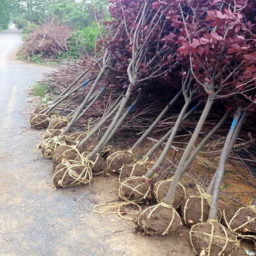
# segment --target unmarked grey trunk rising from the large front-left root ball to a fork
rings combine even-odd
[[[111,122],[111,124],[108,127],[108,130],[105,132],[105,134],[102,136],[101,140],[99,141],[98,145],[92,150],[92,152],[90,152],[90,154],[88,155],[88,159],[93,159],[93,157],[96,156],[96,154],[100,151],[100,149],[102,148],[102,146],[104,145],[105,141],[108,139],[109,134],[111,133],[111,131],[115,128],[116,123],[118,122],[118,119],[120,118],[120,116],[122,115],[122,111],[124,110],[130,96],[131,96],[131,92],[132,92],[132,87],[133,85],[130,84],[129,88],[127,89],[127,92],[125,93],[124,98],[121,101],[120,104],[120,108],[118,109],[115,118],[113,119],[113,121]]]

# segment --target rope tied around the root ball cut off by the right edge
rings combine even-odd
[[[239,216],[240,212],[243,211],[244,209],[248,209],[248,210],[252,211],[255,214],[255,217],[251,218],[250,216],[244,216],[244,218],[246,218],[247,221],[244,221],[244,223],[242,223],[241,225],[239,225],[236,228],[232,228],[231,225],[232,225],[233,221],[237,218],[237,216]],[[241,207],[241,208],[237,209],[236,213],[234,214],[234,216],[231,218],[230,221],[227,220],[227,216],[226,216],[226,213],[225,213],[225,210],[224,210],[223,211],[223,218],[225,220],[225,223],[226,223],[227,227],[234,234],[236,234],[237,236],[243,237],[243,238],[246,238],[246,239],[256,239],[256,235],[242,234],[242,232],[239,232],[239,230],[244,228],[246,225],[248,225],[250,223],[255,223],[255,221],[256,221],[256,207],[255,207],[255,205],[250,205],[248,207]],[[243,232],[246,232],[246,231],[243,231]],[[253,230],[253,232],[256,232],[256,230]]]

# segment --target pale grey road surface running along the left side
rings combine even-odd
[[[52,163],[36,149],[42,131],[24,115],[29,86],[47,70],[15,60],[20,45],[17,29],[0,33],[0,255],[116,255],[104,243],[108,229],[90,228],[90,193],[52,188]]]

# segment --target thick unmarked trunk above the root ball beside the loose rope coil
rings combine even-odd
[[[172,180],[172,184],[168,190],[168,193],[166,195],[166,198],[164,200],[165,204],[169,204],[172,205],[173,204],[173,198],[175,196],[175,191],[177,188],[177,185],[179,183],[180,178],[182,177],[182,175],[184,174],[184,165],[186,163],[186,161],[188,160],[189,154],[193,148],[193,146],[195,145],[195,142],[200,134],[200,131],[202,130],[202,127],[204,125],[205,119],[207,118],[209,111],[211,109],[211,106],[213,104],[214,97],[213,95],[209,95],[207,102],[205,104],[205,108],[204,111],[202,113],[202,115],[200,116],[200,119],[198,121],[198,124],[196,125],[196,129],[191,137],[191,139],[189,140],[188,146],[186,147],[186,150],[184,151],[184,153],[182,154],[182,157],[180,159],[179,165],[177,167],[177,170],[175,172],[175,175],[173,176],[173,180]]]

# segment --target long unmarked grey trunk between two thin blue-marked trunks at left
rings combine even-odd
[[[88,92],[88,94],[86,95],[83,103],[80,105],[79,109],[77,109],[76,113],[74,114],[74,116],[72,117],[72,119],[70,120],[70,122],[68,123],[67,127],[65,127],[65,129],[61,132],[61,135],[63,134],[67,134],[68,131],[70,131],[70,129],[72,128],[72,126],[75,124],[78,115],[81,113],[82,109],[84,108],[84,106],[87,104],[88,100],[90,99],[93,91],[95,90],[95,87],[97,86],[97,84],[99,83],[101,77],[103,76],[105,70],[106,70],[107,66],[105,65],[104,67],[102,67],[102,69],[100,70],[99,75],[97,76],[97,78],[95,79],[92,87],[90,88],[90,91]]]

